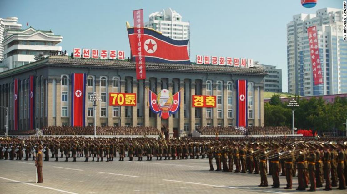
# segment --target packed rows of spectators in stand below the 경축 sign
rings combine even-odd
[[[292,131],[288,127],[253,127],[249,126],[247,128],[238,128],[234,126],[228,127],[200,127],[197,129],[201,135],[269,135],[269,134],[291,134]]]

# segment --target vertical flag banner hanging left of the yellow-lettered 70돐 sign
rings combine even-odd
[[[71,126],[73,127],[85,126],[86,77],[84,73],[71,74]]]

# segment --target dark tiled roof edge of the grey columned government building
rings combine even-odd
[[[113,61],[104,59],[71,59],[71,58],[52,58],[47,57],[37,62],[29,63],[24,66],[13,68],[1,72],[0,78],[16,75],[18,73],[32,71],[36,68],[45,66],[54,67],[75,67],[75,68],[105,68],[105,69],[133,69],[135,62]],[[166,63],[146,63],[146,71],[170,71],[170,72],[189,72],[189,73],[221,73],[265,76],[267,73],[263,69],[230,67],[221,65],[197,65],[197,64],[166,64]]]

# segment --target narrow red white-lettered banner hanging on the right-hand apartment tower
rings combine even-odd
[[[322,76],[322,69],[321,69],[321,61],[319,57],[319,47],[318,47],[316,26],[307,28],[307,34],[308,34],[308,44],[310,45],[313,83],[314,85],[322,84],[323,76]]]

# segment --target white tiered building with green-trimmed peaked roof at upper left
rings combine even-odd
[[[34,55],[44,53],[50,55],[50,50],[60,51],[63,37],[54,35],[51,30],[36,30],[29,27],[24,30],[6,30],[4,33],[3,65],[12,69],[34,62]]]

